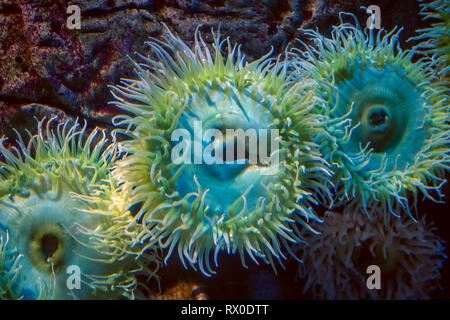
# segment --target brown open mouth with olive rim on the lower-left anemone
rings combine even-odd
[[[50,274],[62,269],[67,236],[59,224],[40,226],[30,241],[30,258],[36,268]]]

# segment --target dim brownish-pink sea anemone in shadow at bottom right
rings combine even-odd
[[[444,241],[435,228],[383,214],[328,212],[319,236],[305,235],[300,257],[304,291],[325,299],[429,299],[439,288]],[[380,269],[380,289],[369,289],[371,265]],[[370,282],[370,281],[369,281]]]

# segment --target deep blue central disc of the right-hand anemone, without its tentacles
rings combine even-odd
[[[352,106],[350,118],[355,126],[343,148],[351,153],[365,147],[372,150],[367,168],[384,165],[385,154],[388,170],[395,166],[404,168],[414,162],[414,155],[426,138],[423,101],[405,77],[392,66],[363,67],[358,62],[352,77],[338,85],[336,114],[344,115]]]

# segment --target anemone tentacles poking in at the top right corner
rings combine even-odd
[[[429,28],[417,30],[420,36],[413,40],[425,40],[417,48],[426,54],[437,55],[437,65],[445,75],[450,71],[450,2],[436,0],[422,3],[421,7],[425,19],[434,19],[435,22]]]

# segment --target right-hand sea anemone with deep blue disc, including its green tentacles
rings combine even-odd
[[[414,50],[401,50],[396,29],[365,33],[344,16],[331,38],[306,31],[315,45],[294,51],[293,59],[298,76],[317,83],[322,103],[314,112],[327,127],[317,142],[335,172],[336,203],[349,211],[411,215],[419,192],[441,198],[448,96],[435,61],[413,62]]]

